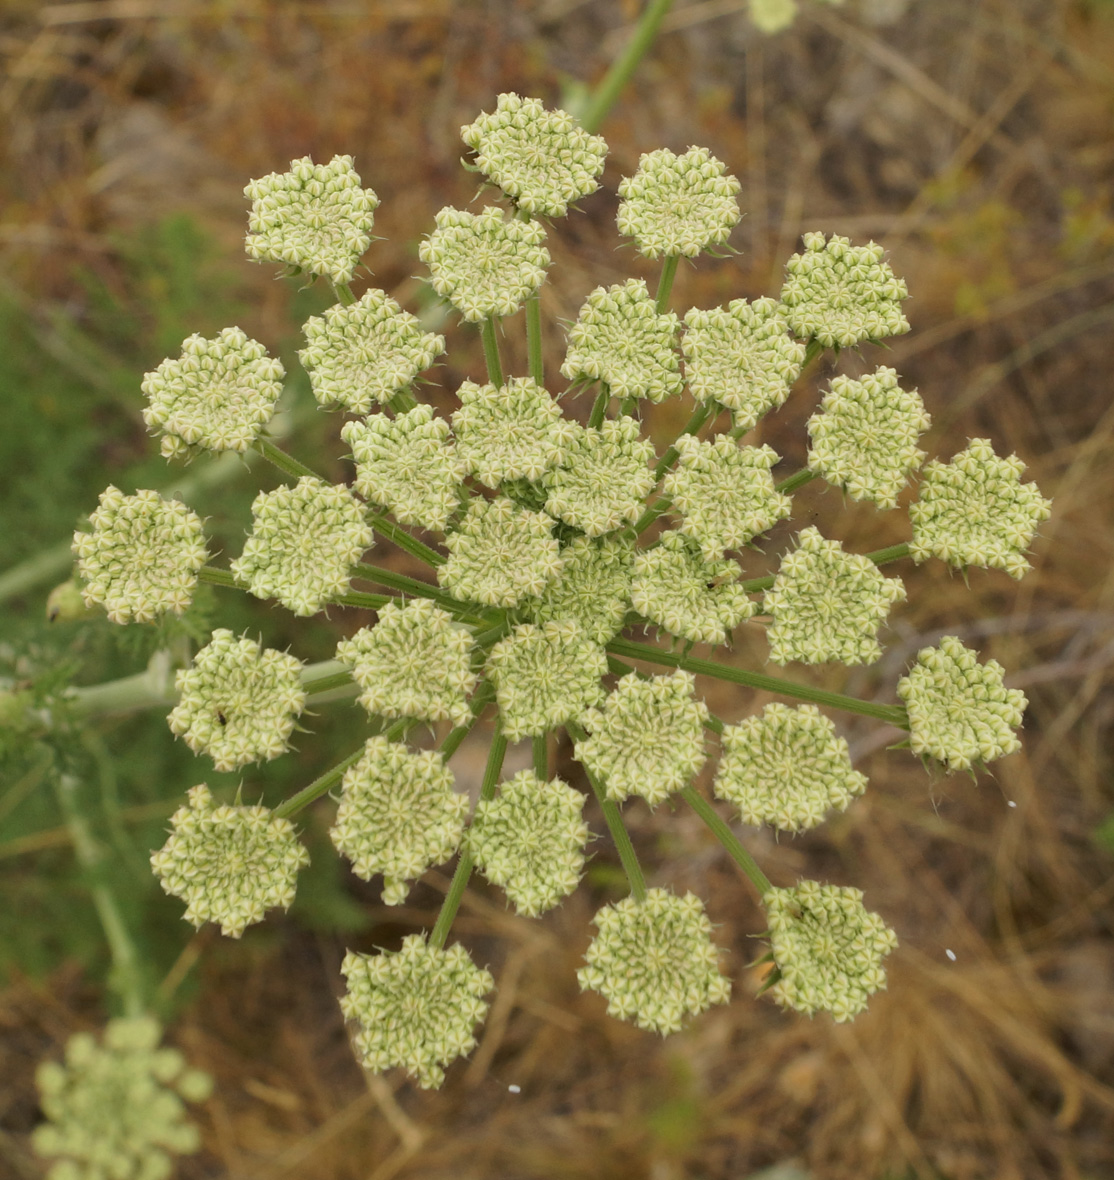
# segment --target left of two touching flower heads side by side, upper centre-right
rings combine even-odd
[[[603,381],[616,398],[664,401],[684,387],[676,341],[677,317],[658,313],[641,278],[597,287],[569,330],[561,373],[570,381]]]

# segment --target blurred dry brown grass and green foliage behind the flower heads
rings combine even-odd
[[[900,570],[909,602],[869,669],[815,680],[892,700],[919,647],[955,634],[1001,660],[1030,697],[1023,753],[978,782],[933,781],[892,732],[845,727],[871,791],[819,832],[747,832],[775,884],[808,876],[866,891],[902,946],[890,989],[854,1024],[782,1014],[752,992],[761,912],[699,821],[630,807],[653,884],[707,899],[735,979],[729,1008],[658,1041],[581,996],[590,917],[616,881],[601,852],[585,885],[527,923],[473,890],[457,932],[496,972],[478,1050],[441,1092],[365,1079],[336,1005],[345,946],[397,945],[435,916],[427,874],[405,907],[332,852],[329,802],[304,817],[313,867],[286,918],[242,942],[194,935],[146,857],[185,789],[231,792],[175,742],[164,710],[6,732],[0,745],[0,1174],[34,1178],[35,1063],[112,1011],[94,897],[105,885],[140,946],[172,1040],[217,1079],[185,1180],[393,1176],[479,1180],[1102,1180],[1114,1175],[1114,5],[1109,0],[804,0],[764,37],[741,0],[677,0],[602,126],[605,190],[555,227],[544,289],[556,324],[595,286],[653,277],[614,228],[615,185],[660,146],[709,148],[743,186],[726,261],[682,268],[674,307],[776,294],[804,230],[885,244],[913,324],[887,350],[919,388],[931,453],[969,437],[1016,451],[1054,497],[1020,584],[938,563]],[[0,5],[0,686],[42,701],[142,671],[211,625],[327,658],[371,616],[314,621],[205,591],[175,634],[103,618],[48,622],[68,539],[107,483],[188,492],[216,546],[238,551],[250,500],[275,476],[198,460],[170,468],[140,418],[139,382],[194,332],[237,323],[299,373],[319,288],[243,257],[244,183],[297,156],[350,153],[382,204],[375,286],[432,322],[417,243],[465,205],[461,124],[504,90],[559,104],[598,80],[635,0],[78,0]],[[483,373],[447,321],[443,408]],[[524,360],[513,356],[516,371]],[[804,459],[826,369],[761,427]],[[286,445],[348,478],[339,420],[291,378]],[[687,418],[658,407],[658,441]],[[793,529],[850,548],[904,539],[900,513],[845,505],[820,481]],[[788,529],[775,531],[771,553]],[[385,550],[386,552],[386,550]],[[755,572],[768,565],[759,557]],[[397,555],[400,569],[407,569]],[[408,572],[419,572],[411,571]],[[173,630],[173,629],[172,629]],[[746,631],[747,629],[743,629]],[[742,635],[751,667],[765,643]],[[764,699],[701,686],[734,720]],[[349,704],[321,707],[299,749],[243,776],[274,804],[360,740]],[[459,776],[479,773],[483,750]],[[566,750],[558,750],[571,774]],[[456,765],[456,763],[454,763]],[[104,853],[74,856],[50,779],[63,766]],[[950,955],[949,955],[950,952]],[[954,958],[952,958],[954,956]],[[511,1092],[509,1087],[519,1090]]]

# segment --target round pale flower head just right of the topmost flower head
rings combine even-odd
[[[739,224],[739,182],[706,148],[643,155],[618,186],[618,231],[647,258],[695,258]]]

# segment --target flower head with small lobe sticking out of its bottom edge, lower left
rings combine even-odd
[[[439,750],[415,754],[368,738],[363,756],[345,772],[329,835],[361,880],[382,873],[385,905],[400,905],[411,880],[457,851],[467,809]]]

